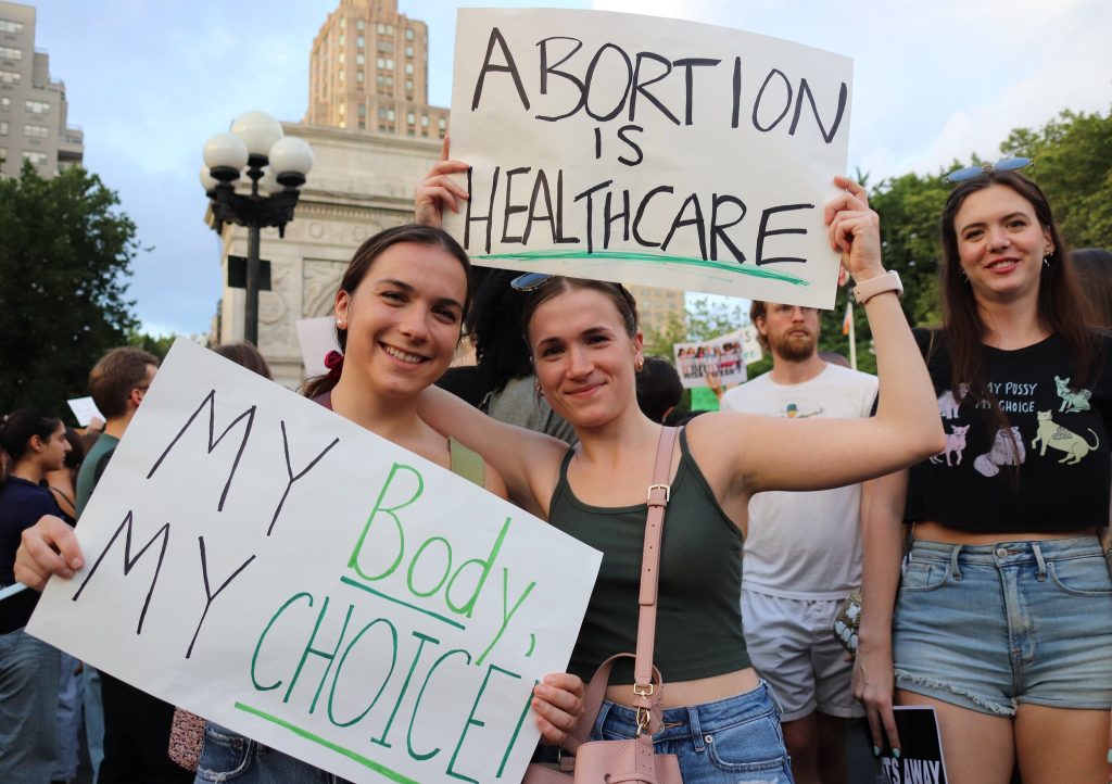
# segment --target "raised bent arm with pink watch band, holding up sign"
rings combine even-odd
[[[864,188],[844,177],[826,206],[831,246],[857,284],[884,274],[880,219]],[[926,367],[894,291],[865,304],[876,348],[880,405],[868,419],[804,421],[743,414],[696,418],[689,434],[701,466],[726,466],[717,478],[729,494],[808,490],[891,474],[945,445]]]

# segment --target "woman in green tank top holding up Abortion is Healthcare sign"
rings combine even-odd
[[[443,209],[458,209],[467,193],[449,175],[464,169],[446,159],[436,165],[417,191],[419,219],[437,222]],[[749,497],[860,482],[942,446],[925,368],[892,296],[898,284],[881,267],[876,214],[861,186],[845,178],[835,183],[844,190],[826,206],[830,241],[866,302],[885,396],[872,419],[706,414],[681,436],[661,555],[654,663],[666,709],[654,741],[657,752],[677,755],[688,784],[792,781],[775,704],[742,637],[738,526]],[[527,298],[523,327],[538,391],[573,424],[579,445],[568,449],[490,421],[441,390],[426,393],[427,419],[479,449],[513,498],[603,550],[572,655],[572,672],[586,678],[603,659],[635,646],[645,487],[662,427],[637,407],[643,336],[623,287],[536,275],[523,276],[518,287],[529,290],[520,295]],[[629,668],[615,667],[610,683],[593,740],[637,732]]]

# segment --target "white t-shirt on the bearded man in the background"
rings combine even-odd
[[[803,384],[765,374],[722,398],[722,410],[851,419],[872,414],[876,377],[827,364]],[[742,589],[793,599],[836,599],[861,587],[861,485],[749,499]]]

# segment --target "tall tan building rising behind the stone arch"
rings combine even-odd
[[[340,0],[312,41],[305,121],[443,139],[448,110],[428,103],[428,26],[397,0]]]

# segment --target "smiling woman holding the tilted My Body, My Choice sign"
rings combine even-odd
[[[328,374],[310,379],[306,395],[505,497],[493,468],[417,414],[418,395],[455,354],[470,302],[469,272],[467,255],[439,229],[399,226],[370,237],[355,252],[336,294],[336,334],[344,354],[329,355]],[[20,548],[19,578],[36,588],[51,574],[69,577],[80,567],[76,540],[56,519],[40,520]],[[562,740],[583,713],[582,697],[578,678],[566,673],[545,677],[533,702],[542,734]],[[232,778],[241,784],[330,781],[324,771],[209,724],[197,781]]]

